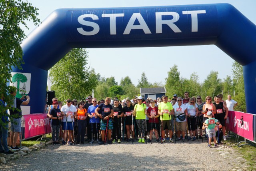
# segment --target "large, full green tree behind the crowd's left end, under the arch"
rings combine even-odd
[[[50,69],[52,90],[60,100],[84,99],[96,87],[97,77],[87,66],[87,51],[72,49]]]

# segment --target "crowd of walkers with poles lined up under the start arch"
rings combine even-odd
[[[106,97],[97,101],[89,95],[86,101],[67,99],[65,105],[54,98],[48,110],[52,141],[60,144],[62,140],[63,145],[112,144],[133,143],[138,138],[139,143],[152,143],[155,135],[157,143],[206,138],[208,147],[212,141],[216,147],[222,138],[226,141],[225,120],[237,105],[231,95],[226,101],[222,98],[219,94],[212,103],[212,97],[207,96],[204,102],[200,95],[190,98],[185,92],[184,98],[174,94],[169,99],[164,95],[158,99],[138,96],[120,101]]]

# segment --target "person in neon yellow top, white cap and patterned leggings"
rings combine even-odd
[[[142,97],[138,97],[138,104],[134,106],[133,115],[136,116],[136,123],[138,127],[138,135],[140,137],[139,143],[145,143],[145,133],[146,133],[146,105],[142,103]]]

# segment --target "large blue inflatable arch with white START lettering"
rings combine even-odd
[[[48,70],[72,48],[208,44],[243,66],[247,111],[255,113],[256,26],[230,4],[58,9],[24,40],[23,70],[12,74],[27,78],[18,88],[30,95],[28,112],[43,113]]]

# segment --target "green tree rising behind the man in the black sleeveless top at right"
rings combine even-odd
[[[222,93],[222,81],[218,78],[217,71],[210,72],[206,80],[204,80],[202,89],[206,91],[206,96],[210,95],[212,99],[214,98],[214,96],[218,95],[219,93]]]

